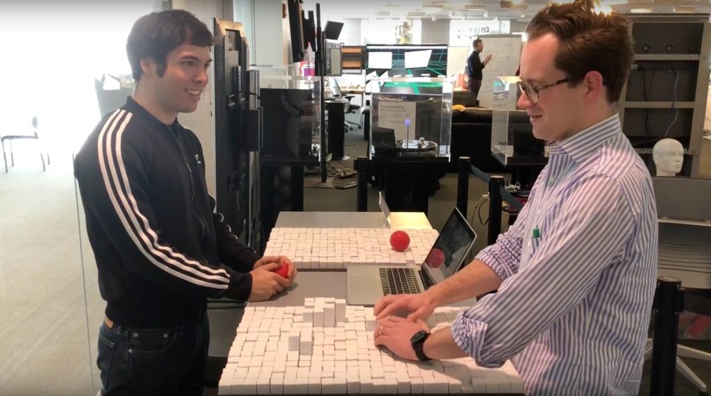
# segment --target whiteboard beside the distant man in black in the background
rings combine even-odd
[[[504,75],[515,75],[521,58],[521,36],[518,34],[496,34],[479,36],[484,44],[480,55],[483,61],[491,54],[493,57],[483,70],[479,106],[493,108],[493,79]],[[448,54],[449,56],[449,54]],[[466,63],[466,59],[464,60]]]

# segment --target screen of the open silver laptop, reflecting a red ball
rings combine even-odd
[[[466,254],[474,245],[474,240],[476,233],[459,210],[454,208],[424,259],[422,269],[434,283],[451,277],[461,267]]]

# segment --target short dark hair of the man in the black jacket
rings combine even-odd
[[[166,56],[171,50],[188,43],[199,47],[213,45],[213,34],[205,23],[184,10],[152,12],[134,23],[126,41],[126,53],[134,80],[141,80],[141,59],[153,58],[158,75],[166,72]]]

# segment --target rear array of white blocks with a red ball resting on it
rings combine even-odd
[[[403,230],[410,247],[390,247],[390,228],[274,228],[265,256],[287,256],[298,269],[345,269],[353,264],[421,264],[437,230]],[[309,304],[304,304],[309,306]]]

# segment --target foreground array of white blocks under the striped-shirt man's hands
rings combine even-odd
[[[328,310],[336,320],[340,301],[306,303],[245,309],[220,379],[220,395],[523,393],[523,382],[510,362],[490,369],[471,358],[402,360],[373,345],[377,322],[372,307],[343,304],[343,321],[326,327],[314,326],[318,312],[323,309],[326,316],[326,307],[332,305]],[[295,320],[308,318],[309,312],[314,321]],[[458,312],[439,308],[427,324],[434,329],[448,326]]]

